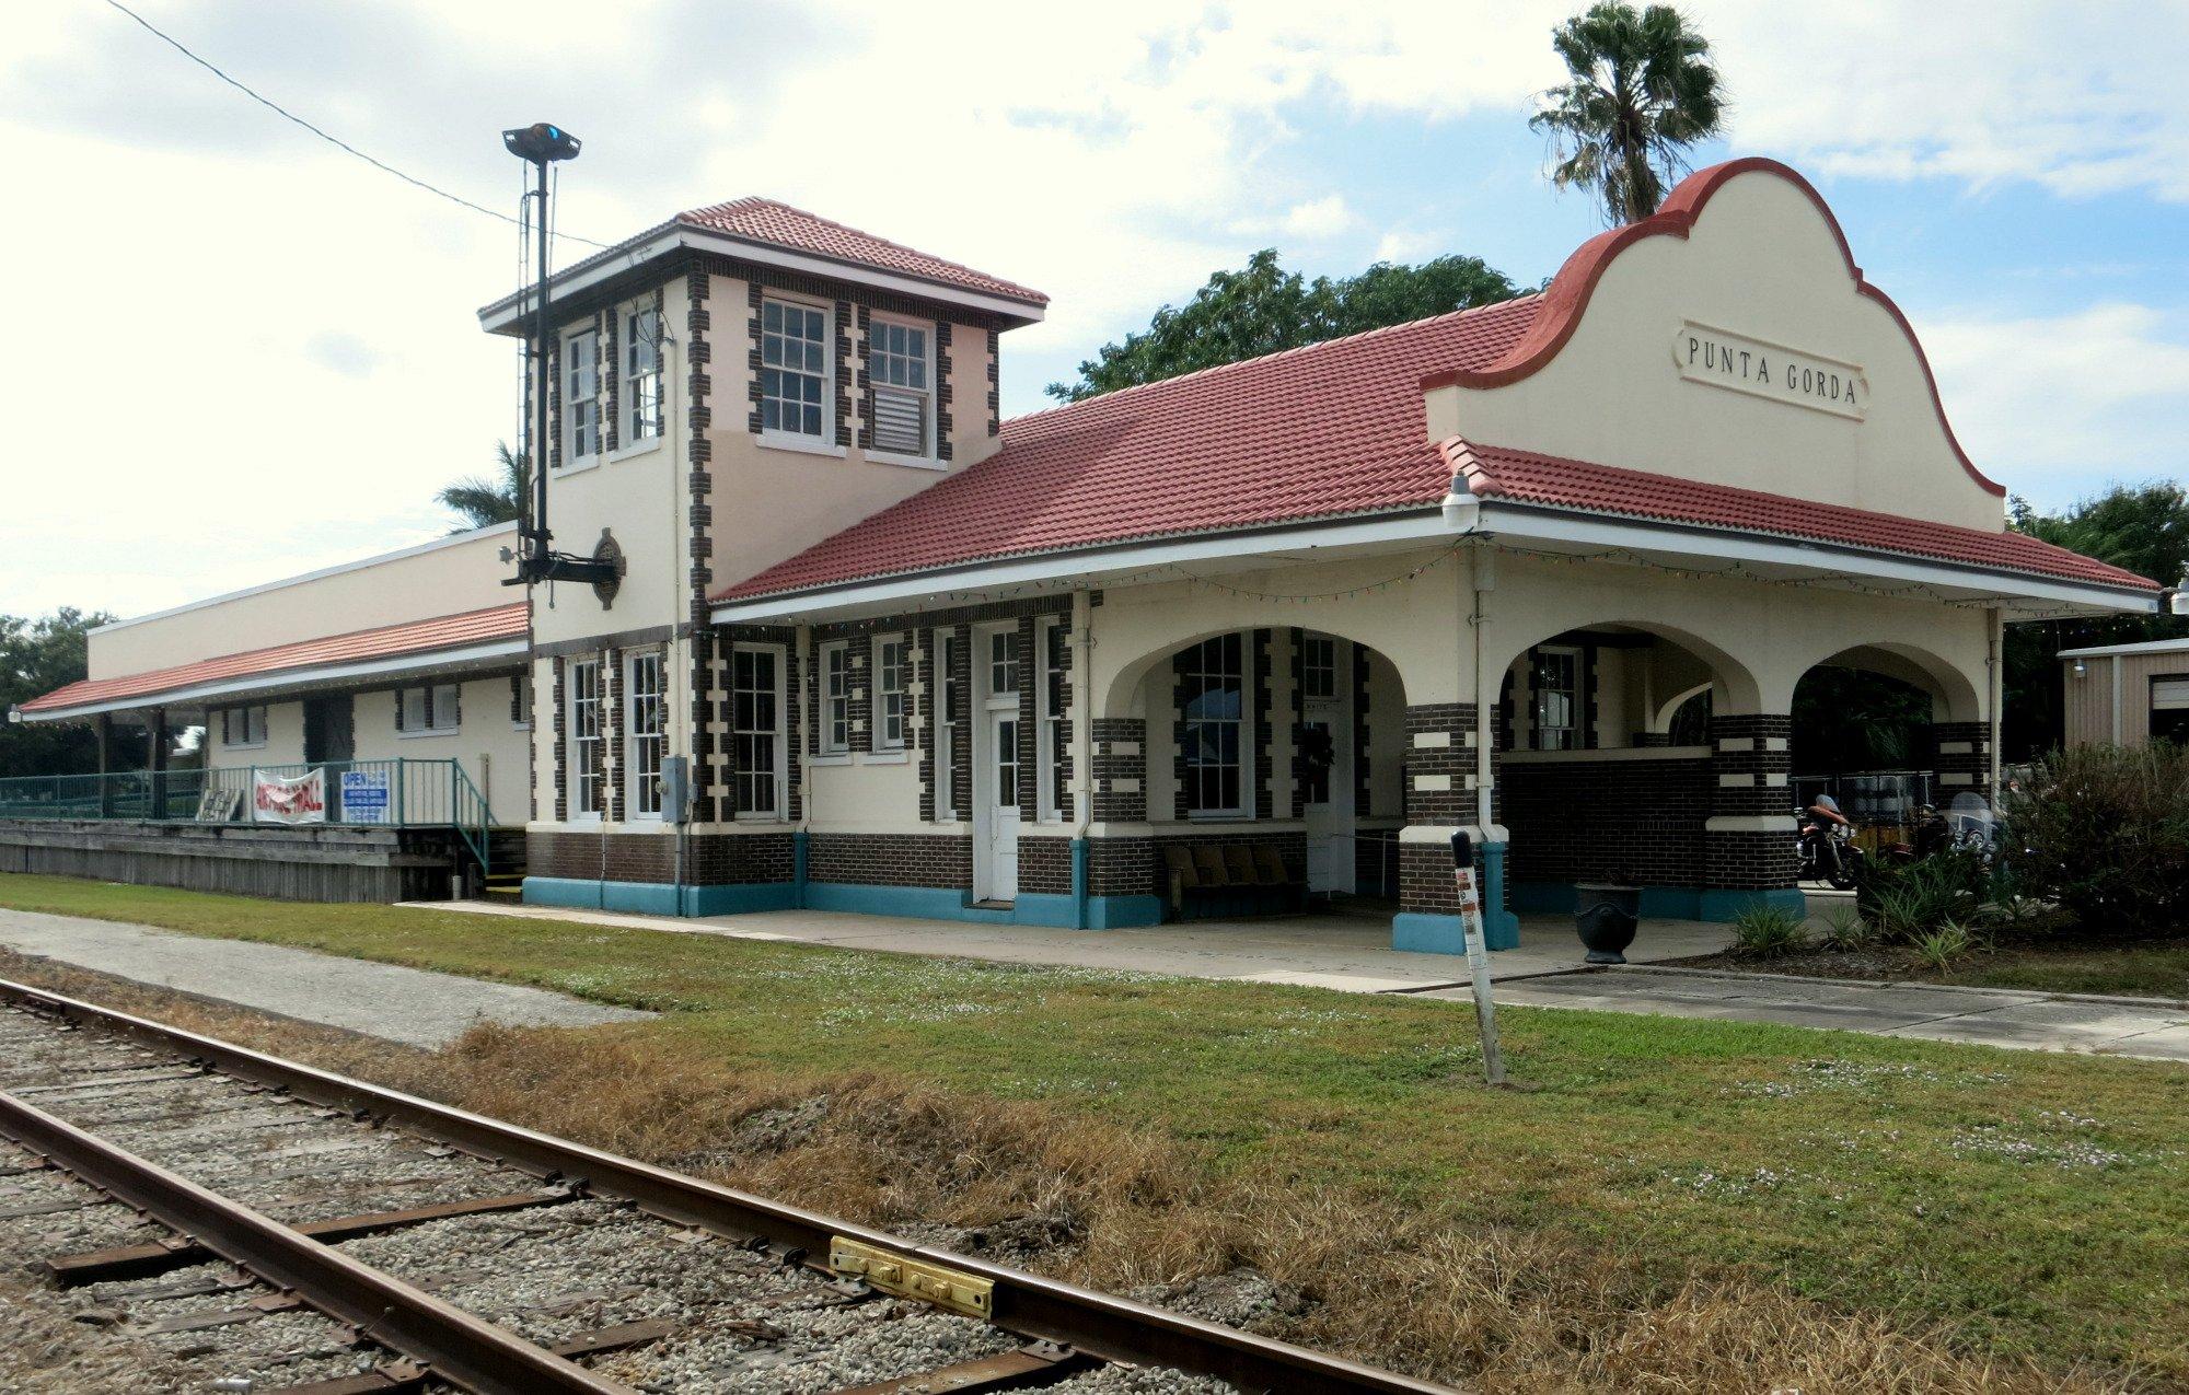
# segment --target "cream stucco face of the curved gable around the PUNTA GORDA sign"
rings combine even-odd
[[[1681,376],[1699,321],[1856,365],[1863,420]],[[1780,363],[1788,363],[1780,356]],[[1920,350],[1863,295],[1828,216],[1773,173],[1731,177],[1690,236],[1646,236],[1602,273],[1572,339],[1502,387],[1429,394],[1429,437],[1543,450],[1887,514],[1999,529],[2003,501],[1964,470]]]

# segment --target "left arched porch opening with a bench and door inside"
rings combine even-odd
[[[1307,625],[1217,630],[1134,658],[1105,693],[1097,728],[1136,732],[1145,761],[1123,776],[1138,805],[1108,816],[1138,816],[1167,918],[1388,918],[1408,695],[1386,654]]]

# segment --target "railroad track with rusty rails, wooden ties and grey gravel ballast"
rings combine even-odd
[[[0,1139],[131,1391],[1443,1391],[7,980]]]

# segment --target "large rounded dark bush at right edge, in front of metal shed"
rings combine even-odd
[[[2001,866],[2086,929],[2189,923],[2189,748],[2077,746],[2007,794]]]

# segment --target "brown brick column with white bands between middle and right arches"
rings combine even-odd
[[[1729,921],[1756,901],[1804,910],[1793,818],[1793,717],[1710,717],[1710,822],[1703,824],[1701,916]]]

